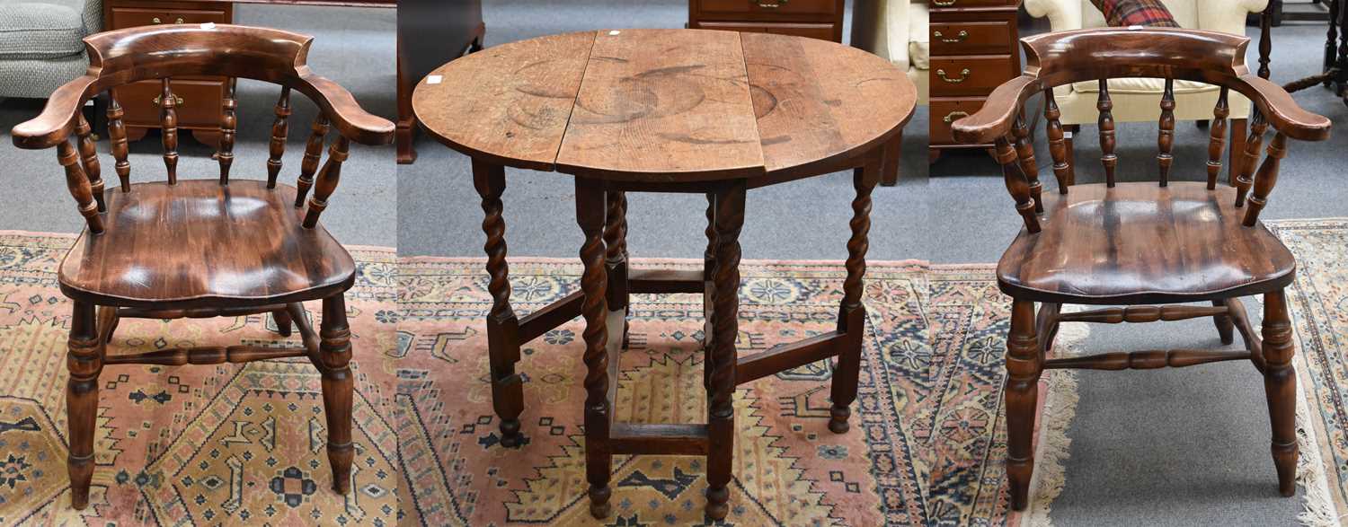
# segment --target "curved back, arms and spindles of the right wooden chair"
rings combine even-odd
[[[993,143],[993,156],[1002,163],[1007,190],[1015,198],[1016,210],[1031,233],[1039,232],[1037,213],[1043,212],[1039,199],[1042,185],[1038,181],[1034,148],[1022,108],[1035,93],[1045,96],[1049,152],[1053,155],[1058,191],[1066,194],[1073,183],[1066,159],[1068,150],[1064,147],[1062,124],[1058,121],[1058,108],[1053,96],[1054,86],[1099,80],[1100,96],[1096,108],[1100,112],[1100,160],[1105,182],[1111,187],[1115,185],[1117,156],[1113,154],[1115,124],[1111,115],[1113,104],[1109,100],[1107,80],[1122,77],[1166,80],[1159,102],[1157,137],[1161,186],[1167,185],[1173,163],[1170,148],[1174,140],[1174,80],[1221,86],[1211,128],[1209,189],[1216,187],[1216,175],[1221,168],[1225,120],[1229,115],[1228,92],[1235,90],[1248,97],[1254,102],[1251,133],[1236,178],[1236,208],[1243,208],[1250,194],[1251,206],[1246,209],[1244,216],[1247,226],[1255,225],[1268,193],[1273,191],[1278,178],[1278,162],[1286,155],[1287,137],[1301,140],[1329,137],[1328,119],[1304,111],[1281,86],[1250,73],[1244,62],[1250,39],[1244,36],[1178,28],[1095,28],[1049,32],[1024,38],[1020,43],[1027,58],[1024,73],[998,86],[979,112],[956,121],[950,128],[954,139],[961,143]],[[1252,174],[1263,135],[1270,125],[1277,133],[1270,140],[1268,155],[1258,173]]]

